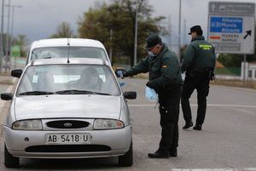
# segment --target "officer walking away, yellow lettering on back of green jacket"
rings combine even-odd
[[[183,129],[193,126],[189,98],[193,91],[197,91],[197,117],[195,130],[201,130],[207,111],[207,95],[209,94],[209,83],[213,79],[215,67],[215,53],[212,44],[202,36],[201,26],[192,26],[189,35],[191,43],[183,54],[182,72],[185,71],[183,83],[183,94],[181,99],[185,125]]]

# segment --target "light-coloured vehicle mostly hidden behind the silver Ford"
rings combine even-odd
[[[26,64],[31,60],[49,58],[98,58],[111,65],[104,45],[88,38],[48,38],[34,41]]]

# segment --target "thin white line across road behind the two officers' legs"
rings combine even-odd
[[[131,107],[148,107],[155,104],[128,104]],[[190,106],[197,106],[196,104],[190,104]],[[221,104],[207,104],[207,107],[241,107],[241,108],[256,108],[256,105],[221,105]]]

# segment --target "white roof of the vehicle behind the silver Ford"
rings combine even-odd
[[[74,47],[96,47],[104,48],[103,44],[97,40],[88,38],[48,38],[34,41],[31,48],[44,48],[44,47],[65,47],[69,43]]]

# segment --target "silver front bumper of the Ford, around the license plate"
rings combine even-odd
[[[5,145],[10,154],[14,157],[28,157],[28,158],[87,158],[87,157],[113,157],[124,155],[129,150],[131,145],[131,125],[121,129],[110,130],[86,130],[86,131],[25,131],[14,130],[4,126],[4,138]],[[91,135],[90,142],[88,144],[79,145],[49,145],[45,142],[46,134],[78,134],[86,133]],[[29,139],[28,141],[27,138]],[[72,151],[73,147],[78,149],[83,146],[108,146],[109,150],[93,151]],[[40,151],[26,151],[26,149],[33,146],[42,147]],[[59,147],[68,148],[67,151],[44,151],[51,147],[52,149]],[[78,148],[77,148],[78,147]],[[63,148],[63,149],[65,149]],[[82,149],[82,148],[81,148]]]

